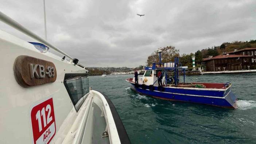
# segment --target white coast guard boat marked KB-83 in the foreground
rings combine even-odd
[[[1,144],[130,143],[115,106],[89,88],[88,70],[78,59],[2,12],[0,20],[38,41],[0,30]]]

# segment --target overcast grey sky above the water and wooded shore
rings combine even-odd
[[[43,0],[0,0],[0,11],[44,38]],[[136,67],[159,47],[256,39],[256,0],[46,0],[46,20],[48,41],[85,66]]]

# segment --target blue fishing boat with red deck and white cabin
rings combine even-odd
[[[185,68],[176,57],[174,62],[161,63],[161,50],[159,50],[159,63],[153,63],[145,67],[143,77],[126,79],[131,83],[131,88],[140,94],[155,98],[172,101],[193,102],[224,108],[236,108],[237,97],[230,90],[231,83],[206,83],[206,82],[185,82]],[[157,77],[158,72],[161,75]],[[173,73],[170,77],[168,73]],[[183,82],[180,82],[180,74],[183,75]],[[163,85],[158,80],[163,80]]]

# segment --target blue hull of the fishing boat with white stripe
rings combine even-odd
[[[157,86],[154,86],[155,89],[152,91],[149,90],[148,87],[146,87],[146,89],[142,89],[141,85],[139,85],[139,87],[135,87],[134,83],[131,84],[133,85],[132,89],[136,92],[156,98],[173,101],[194,102],[198,104],[206,104],[233,109],[236,108],[235,103],[237,97],[230,91],[230,89],[226,89],[225,91],[216,91],[164,87],[164,91],[160,92],[157,90]]]

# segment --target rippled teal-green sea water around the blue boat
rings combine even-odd
[[[231,82],[236,110],[140,95],[125,82],[132,76],[89,77],[112,100],[132,143],[256,143],[256,73],[187,76],[186,82]]]

